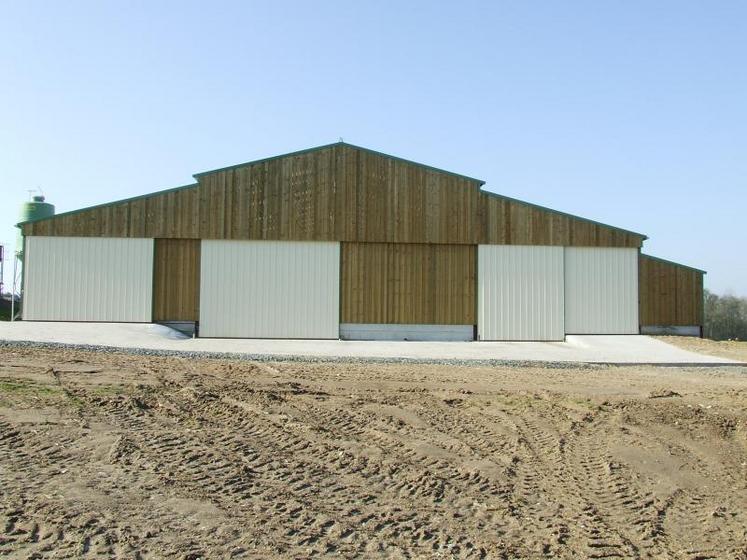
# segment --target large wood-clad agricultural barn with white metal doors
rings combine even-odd
[[[646,236],[336,143],[19,224],[23,318],[203,337],[699,334],[703,271]]]

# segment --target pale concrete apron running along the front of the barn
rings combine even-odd
[[[643,335],[568,335],[565,342],[392,342],[189,338],[141,323],[0,323],[0,340],[112,348],[309,358],[541,361],[729,365],[734,360],[682,350]]]

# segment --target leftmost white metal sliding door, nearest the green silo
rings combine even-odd
[[[152,320],[152,239],[30,236],[24,267],[27,321]]]

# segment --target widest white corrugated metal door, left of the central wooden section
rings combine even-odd
[[[340,244],[203,240],[200,335],[338,338]]]

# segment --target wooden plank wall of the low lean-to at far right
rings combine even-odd
[[[638,262],[642,326],[703,324],[703,272],[648,255]]]

